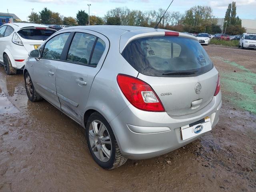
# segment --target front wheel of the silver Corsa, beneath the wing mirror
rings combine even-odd
[[[28,72],[25,73],[24,80],[25,80],[25,88],[26,88],[26,93],[27,93],[28,99],[30,101],[34,101],[34,102],[43,100],[43,98],[40,96],[40,94],[38,94],[38,92],[36,92],[33,82],[31,80],[31,77]]]

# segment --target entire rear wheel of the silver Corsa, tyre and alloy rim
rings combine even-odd
[[[114,169],[127,161],[120,152],[110,124],[98,112],[94,112],[88,118],[86,140],[92,158],[102,168]]]

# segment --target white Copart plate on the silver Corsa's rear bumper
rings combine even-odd
[[[198,136],[202,133],[208,132],[210,130],[212,130],[211,120],[210,118],[205,118],[204,122],[200,121],[196,125],[182,126],[180,128],[180,134],[181,134],[182,140],[186,140],[194,136]]]

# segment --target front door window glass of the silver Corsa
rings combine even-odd
[[[64,45],[70,33],[62,33],[50,39],[44,46],[42,58],[60,60]]]

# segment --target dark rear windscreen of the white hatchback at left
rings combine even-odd
[[[49,29],[22,29],[18,31],[22,38],[29,40],[46,40],[54,33],[54,30]]]

